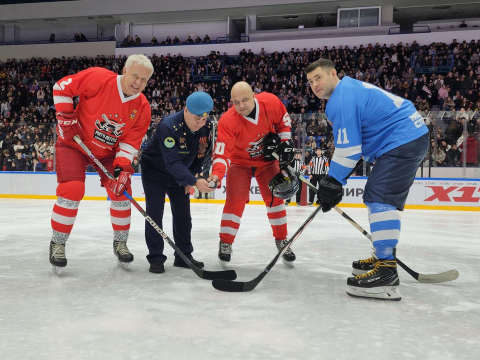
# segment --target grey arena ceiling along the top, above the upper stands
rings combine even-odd
[[[86,2],[92,2],[93,0],[80,0],[71,1],[72,9],[73,4],[85,4]],[[102,0],[95,0],[95,3],[101,3]],[[127,3],[133,4],[133,8],[138,11],[141,10],[142,4],[148,2],[148,0],[128,1]],[[181,2],[181,1],[180,1]],[[191,1],[190,1],[191,2]],[[89,12],[85,12],[85,6],[82,6],[81,10],[72,10],[72,12],[85,15],[78,16],[64,16],[68,10],[62,8],[58,11],[49,11],[48,16],[42,18],[24,18],[22,17],[23,11],[17,11],[20,9],[15,6],[24,5],[0,5],[0,24],[14,23],[19,27],[39,27],[39,26],[51,26],[52,24],[59,25],[86,25],[86,24],[100,24],[100,25],[113,25],[120,22],[132,22],[135,24],[140,23],[165,23],[165,22],[184,22],[184,21],[212,21],[219,19],[226,19],[227,16],[232,18],[244,18],[245,15],[256,14],[260,27],[262,29],[269,28],[284,28],[295,27],[298,24],[303,24],[305,27],[311,26],[315,21],[317,13],[322,13],[325,18],[325,25],[336,24],[336,12],[340,7],[355,7],[355,6],[376,6],[376,5],[393,5],[393,22],[401,23],[408,21],[423,21],[423,20],[441,20],[452,18],[472,18],[480,17],[480,2],[473,0],[463,0],[458,3],[454,3],[451,0],[402,0],[399,4],[394,0],[330,0],[330,1],[302,1],[297,3],[285,3],[285,0],[264,0],[263,5],[247,6],[249,2],[258,4],[258,1],[245,0],[242,6],[238,6],[238,2],[232,2],[235,7],[227,7],[231,0],[223,2],[223,8],[209,8],[209,9],[195,9],[188,10],[188,5],[185,5],[185,10],[181,11],[162,11],[162,9],[169,9],[170,7],[161,6],[158,11],[145,11],[136,13],[127,13],[127,8],[124,11],[118,12],[118,6],[112,8],[108,7],[111,12],[108,13],[107,8],[98,8],[95,10],[92,8]],[[272,3],[273,2],[273,3]],[[56,4],[61,2],[56,2]],[[65,2],[63,2],[65,3]],[[112,2],[113,3],[113,2]],[[165,5],[162,1],[157,3]],[[215,1],[216,5],[218,4]],[[266,4],[268,3],[268,4]],[[28,4],[31,6],[37,6],[37,4]],[[193,5],[192,5],[193,6]],[[61,6],[60,6],[61,7]],[[6,11],[1,11],[5,9]],[[151,6],[150,6],[150,9]],[[113,11],[112,11],[113,10]],[[2,15],[3,13],[3,15]],[[9,16],[6,14],[10,13]],[[41,11],[36,13],[41,14]],[[62,14],[62,16],[60,16]],[[284,19],[285,16],[298,16],[296,19]],[[31,16],[30,16],[31,17]],[[241,20],[239,20],[241,24]]]

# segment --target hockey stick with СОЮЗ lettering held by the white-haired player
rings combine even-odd
[[[93,155],[88,147],[81,141],[81,139],[78,137],[78,135],[73,136],[73,139],[80,145],[80,147],[85,151],[85,153],[95,162],[95,164],[105,173],[105,175],[111,179],[115,180],[113,175],[108,171],[105,166],[102,165],[102,163]],[[188,259],[188,257],[183,254],[183,252],[180,251],[178,247],[176,247],[175,243],[167,236],[166,233],[163,232],[163,230],[151,219],[150,216],[141,208],[141,206],[138,204],[138,202],[135,201],[135,199],[126,191],[123,191],[123,195],[125,195],[130,202],[133,204],[133,206],[136,207],[138,211],[143,215],[143,217],[148,221],[148,223],[153,226],[153,228],[160,234],[160,236],[175,250],[175,252],[181,257],[183,261],[193,270],[193,272],[198,276],[201,277],[202,279],[205,280],[213,280],[215,278],[223,278],[226,280],[234,280],[236,279],[236,272],[235,270],[223,270],[223,271],[207,271],[207,270],[202,270],[195,265]]]

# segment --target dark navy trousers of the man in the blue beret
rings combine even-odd
[[[173,240],[175,245],[191,258],[193,246],[191,244],[191,216],[190,216],[190,194],[185,195],[184,186],[165,185],[162,182],[145,181],[141,179],[145,191],[146,213],[156,224],[163,229],[162,217],[165,206],[165,193],[170,199],[170,208],[173,220]],[[164,240],[158,232],[145,221],[145,241],[148,247],[146,259],[149,263],[165,262],[163,254]],[[175,257],[179,257],[177,253]]]

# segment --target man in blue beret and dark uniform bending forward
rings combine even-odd
[[[184,109],[166,116],[158,124],[140,158],[141,182],[145,192],[146,212],[162,228],[165,193],[170,200],[173,217],[173,239],[176,246],[191,262],[203,267],[203,262],[192,258],[190,188],[208,193],[214,190],[195,174],[201,171],[205,154],[210,147],[211,123],[208,115],[213,100],[206,92],[193,92],[186,98]],[[150,272],[165,271],[163,238],[145,221],[145,240],[149,254]],[[173,266],[188,267],[174,254]]]

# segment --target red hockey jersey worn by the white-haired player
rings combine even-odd
[[[81,139],[96,157],[116,153],[113,166],[123,167],[130,165],[138,152],[151,113],[145,95],[123,94],[120,78],[101,67],[65,76],[53,85],[53,102],[57,112],[72,113],[72,98],[79,96],[75,113]],[[80,149],[73,139],[59,141]]]

